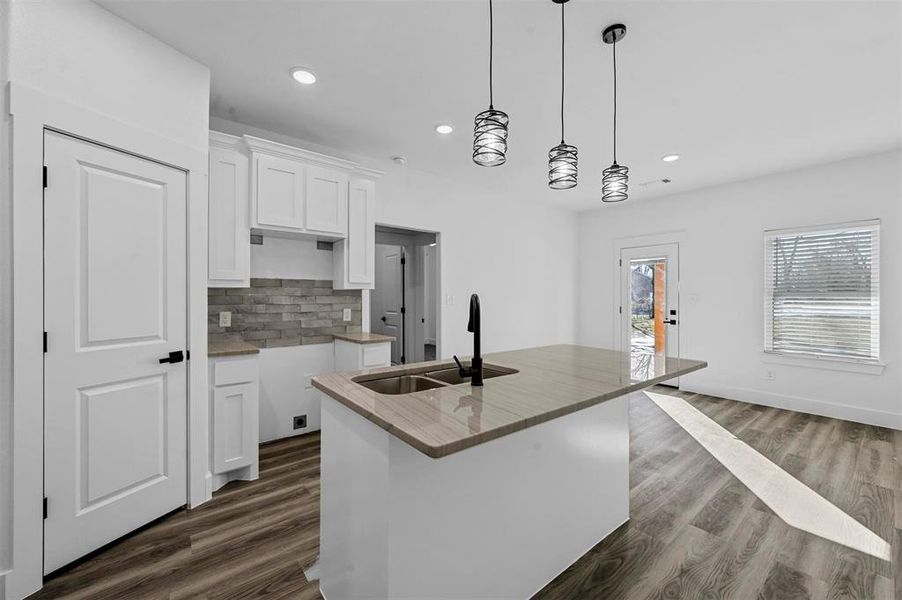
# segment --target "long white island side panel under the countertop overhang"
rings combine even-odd
[[[629,519],[628,396],[440,459],[389,446],[389,598],[529,598]]]

